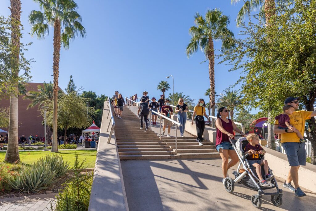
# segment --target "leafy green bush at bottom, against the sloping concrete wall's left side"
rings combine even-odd
[[[78,155],[76,153],[74,167],[74,178],[66,184],[63,190],[60,190],[56,195],[56,207],[55,211],[84,211],[88,210],[91,187],[93,181],[93,172],[87,175],[81,174],[84,167],[83,164],[86,160],[83,160],[79,164]],[[51,203],[51,210],[52,203]]]

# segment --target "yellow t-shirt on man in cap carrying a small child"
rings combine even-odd
[[[304,135],[305,129],[305,120],[310,119],[309,117],[313,111],[294,111],[290,117],[290,125],[295,127],[302,135]],[[279,124],[276,120],[275,125]],[[284,142],[300,142],[300,138],[296,135],[296,133],[282,133],[281,143]]]

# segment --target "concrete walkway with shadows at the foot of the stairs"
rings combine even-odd
[[[250,197],[257,191],[236,184],[233,194],[226,192],[221,165],[221,159],[122,161],[129,208],[131,211],[256,210]],[[237,165],[229,170],[230,177],[236,168]],[[298,198],[282,187],[283,182],[278,181],[283,189],[283,205],[275,207],[270,196],[263,195],[261,210],[315,210],[316,193],[303,189],[307,196]]]

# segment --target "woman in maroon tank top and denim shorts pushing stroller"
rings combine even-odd
[[[219,152],[222,158],[222,172],[224,183],[227,177],[227,171],[238,163],[238,156],[230,143],[229,139],[234,139],[234,131],[245,136],[243,132],[235,125],[234,121],[227,119],[228,110],[225,107],[221,107],[217,112],[216,119],[216,150]],[[228,156],[231,160],[228,162]]]

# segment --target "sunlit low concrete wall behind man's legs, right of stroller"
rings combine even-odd
[[[286,180],[290,170],[286,154],[271,150],[264,146],[263,148],[267,152],[264,155],[264,158],[268,161],[270,169],[273,170],[273,174]],[[316,192],[316,165],[306,163],[306,166],[300,167],[298,174],[299,185],[303,188]]]

